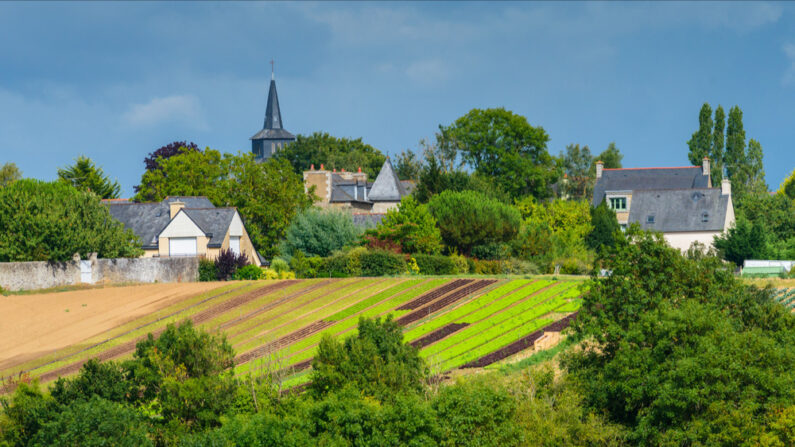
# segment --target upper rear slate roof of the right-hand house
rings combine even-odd
[[[593,205],[599,205],[608,191],[709,188],[709,176],[700,166],[684,168],[605,169],[594,186]],[[635,206],[635,196],[632,197]]]

